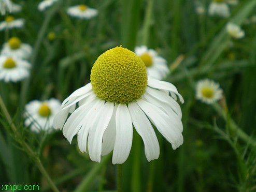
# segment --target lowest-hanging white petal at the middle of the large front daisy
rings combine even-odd
[[[133,125],[126,104],[119,104],[116,114],[116,141],[113,150],[113,164],[122,164],[128,158],[133,142]]]

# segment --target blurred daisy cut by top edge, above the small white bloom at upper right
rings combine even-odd
[[[224,0],[213,0],[209,5],[208,12],[210,16],[230,17],[230,8]]]

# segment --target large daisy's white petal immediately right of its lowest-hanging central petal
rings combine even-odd
[[[150,124],[148,117],[134,102],[129,103],[128,109],[132,117],[133,125],[143,139],[145,145],[145,154],[148,161],[157,159],[160,154],[160,147],[158,138],[155,135],[154,129]]]

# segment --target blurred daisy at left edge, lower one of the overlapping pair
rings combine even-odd
[[[18,57],[0,55],[0,80],[17,82],[29,77],[31,65]]]

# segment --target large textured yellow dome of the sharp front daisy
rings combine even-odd
[[[96,96],[128,103],[144,94],[148,83],[146,66],[134,52],[116,47],[100,55],[91,71]]]

